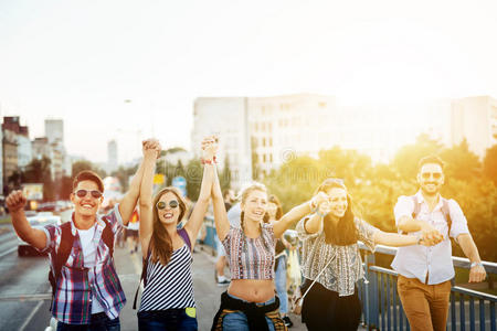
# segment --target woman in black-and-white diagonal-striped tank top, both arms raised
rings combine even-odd
[[[193,245],[208,207],[213,179],[213,140],[204,139],[200,195],[187,224],[187,207],[176,188],[159,191],[152,202],[155,164],[160,148],[145,150],[140,188],[140,243],[146,277],[138,310],[139,330],[197,330],[191,263]]]

